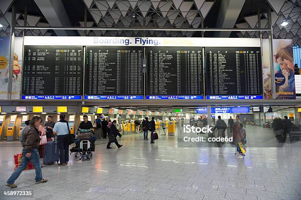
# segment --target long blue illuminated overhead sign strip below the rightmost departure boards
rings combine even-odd
[[[197,114],[207,114],[207,107],[197,108]],[[250,107],[212,107],[211,113],[250,113]]]

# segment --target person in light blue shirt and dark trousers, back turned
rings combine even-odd
[[[87,117],[88,118],[88,117]],[[53,133],[58,136],[58,148],[60,155],[60,164],[67,165],[69,161],[69,138],[68,134],[70,133],[70,127],[68,121],[65,120],[65,115],[60,114],[60,121],[58,121],[54,128]]]

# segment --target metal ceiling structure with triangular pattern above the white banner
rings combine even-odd
[[[0,36],[10,35],[11,5],[14,3],[16,26],[30,27],[93,27],[93,28],[267,28],[267,7],[273,9],[274,38],[293,39],[301,45],[301,0],[1,0]],[[241,7],[241,5],[243,5]],[[259,9],[258,9],[259,6]],[[27,9],[25,9],[27,7]],[[86,11],[85,11],[86,10]],[[27,13],[27,23],[24,15]],[[235,14],[233,14],[235,13]],[[239,16],[238,16],[239,14]],[[85,20],[86,19],[86,20]],[[286,21],[285,27],[280,24]],[[71,30],[29,29],[27,35],[147,36],[201,37],[196,31],[155,30]],[[217,35],[216,35],[217,34]],[[215,36],[258,37],[256,31],[215,33]],[[23,36],[21,29],[16,36]],[[205,32],[214,36],[213,32]],[[268,33],[263,34],[267,38]]]

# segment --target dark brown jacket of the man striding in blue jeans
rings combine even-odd
[[[26,126],[22,132],[22,146],[26,152],[31,152],[33,148],[38,148],[40,145],[40,134],[35,127]]]

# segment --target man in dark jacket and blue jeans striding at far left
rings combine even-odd
[[[40,155],[38,152],[38,147],[40,143],[39,132],[36,127],[41,125],[42,118],[39,116],[34,116],[30,120],[30,125],[26,126],[23,130],[22,137],[22,161],[18,168],[11,174],[11,176],[6,181],[6,185],[10,188],[16,188],[14,184],[15,180],[20,176],[21,172],[27,167],[28,162],[33,163],[35,169],[35,183],[45,183],[47,179],[42,177],[42,168],[40,163]]]

